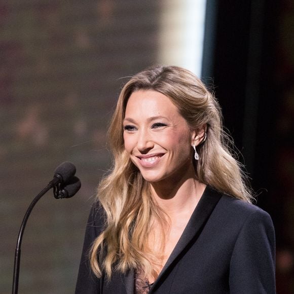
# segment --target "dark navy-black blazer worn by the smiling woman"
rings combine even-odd
[[[134,273],[91,273],[88,250],[103,226],[93,206],[76,294],[134,292]],[[262,209],[207,187],[150,293],[275,293],[275,235]]]

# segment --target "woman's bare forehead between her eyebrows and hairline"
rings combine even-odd
[[[166,95],[154,90],[138,90],[128,99],[125,116],[180,116],[177,107]]]

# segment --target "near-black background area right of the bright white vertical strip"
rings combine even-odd
[[[207,22],[202,75],[273,218],[277,292],[294,293],[294,3],[208,1]]]

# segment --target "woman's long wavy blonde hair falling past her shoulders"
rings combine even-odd
[[[123,87],[108,130],[114,165],[98,187],[97,199],[106,217],[104,231],[90,251],[91,267],[97,277],[104,271],[111,278],[113,270],[124,273],[140,269],[148,276],[158,272],[154,267],[158,256],[149,247],[148,237],[153,220],[164,230],[166,217],[151,197],[149,183],[127,155],[123,140],[128,98],[138,90],[155,90],[169,97],[192,129],[207,126],[207,139],[197,150],[200,159],[194,163],[200,182],[246,202],[252,200],[246,176],[232,156],[232,142],[223,130],[222,114],[213,94],[189,70],[177,66],[143,70]]]

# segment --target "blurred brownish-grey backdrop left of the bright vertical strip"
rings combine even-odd
[[[0,288],[30,201],[59,163],[82,189],[46,194],[22,243],[19,292],[72,293],[95,187],[109,166],[105,130],[122,83],[156,63],[155,0],[0,1]]]

